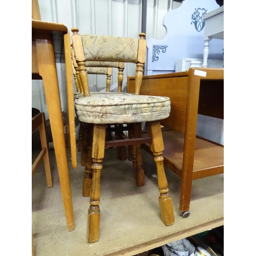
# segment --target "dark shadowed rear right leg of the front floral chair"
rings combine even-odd
[[[134,123],[134,138],[141,138],[142,130],[141,123]],[[136,184],[138,187],[142,187],[145,184],[144,181],[144,169],[142,167],[142,157],[141,157],[141,146],[140,144],[135,145],[135,169],[136,169]]]

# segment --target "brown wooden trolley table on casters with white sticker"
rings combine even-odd
[[[127,92],[133,93],[135,77],[127,77]],[[196,136],[198,114],[224,119],[224,69],[190,68],[188,71],[143,76],[142,95],[170,98],[166,129],[164,163],[181,177],[180,211],[189,216],[192,181],[224,173],[224,147]],[[142,145],[151,153],[149,145]]]

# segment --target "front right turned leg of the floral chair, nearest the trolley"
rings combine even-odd
[[[174,224],[174,211],[173,202],[168,195],[168,183],[164,172],[163,156],[164,150],[163,137],[160,126],[160,121],[147,122],[148,135],[152,138],[150,149],[153,152],[155,162],[157,165],[157,181],[160,191],[160,197],[158,198],[161,219],[166,226]]]

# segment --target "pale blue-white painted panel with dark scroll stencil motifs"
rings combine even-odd
[[[169,11],[163,19],[166,36],[162,40],[147,37],[147,73],[175,72],[177,59],[202,58],[202,16],[218,7],[215,0],[184,0],[179,8]],[[223,60],[223,41],[212,40],[211,46],[209,59]]]

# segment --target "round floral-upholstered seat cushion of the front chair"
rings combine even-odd
[[[168,97],[102,93],[75,100],[81,122],[96,124],[156,121],[170,114]]]

